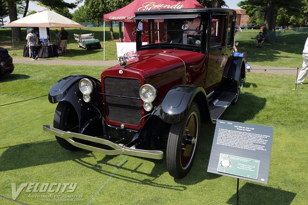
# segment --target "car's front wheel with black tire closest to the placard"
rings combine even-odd
[[[186,118],[170,127],[166,160],[171,176],[183,178],[189,172],[195,158],[199,131],[200,112],[198,105],[192,103]]]

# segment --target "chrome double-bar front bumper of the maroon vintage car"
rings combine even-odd
[[[163,158],[163,152],[162,151],[156,151],[156,150],[139,150],[134,148],[125,147],[124,145],[118,145],[114,144],[111,141],[108,141],[106,139],[98,138],[98,137],[92,137],[84,134],[74,133],[74,132],[65,132],[56,128],[51,127],[50,125],[43,125],[43,130],[53,134],[55,136],[61,137],[65,140],[67,140],[70,144],[72,144],[75,147],[79,147],[84,150],[90,150],[92,152],[99,152],[105,155],[130,155],[130,156],[137,156],[137,157],[145,157],[145,158],[151,158],[151,159],[162,159]],[[83,139],[87,141],[96,142],[102,145],[107,145],[114,150],[105,150],[102,148],[92,147],[89,145],[81,144],[80,142],[76,142],[71,138],[78,138]]]

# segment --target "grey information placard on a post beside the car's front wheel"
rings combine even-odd
[[[207,171],[267,183],[274,127],[217,120]]]

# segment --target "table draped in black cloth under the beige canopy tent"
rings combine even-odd
[[[35,50],[36,55],[39,58],[49,58],[49,57],[57,57],[57,46],[56,45],[43,45],[36,46]],[[29,47],[24,47],[24,57],[29,57]]]

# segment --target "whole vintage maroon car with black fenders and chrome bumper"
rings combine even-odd
[[[239,99],[246,56],[233,55],[235,19],[220,8],[136,12],[137,57],[120,57],[101,81],[59,80],[44,130],[68,150],[153,159],[165,151],[170,175],[184,177],[206,137],[201,120],[215,123]]]

